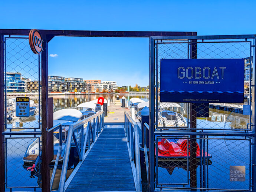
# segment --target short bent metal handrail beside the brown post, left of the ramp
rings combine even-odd
[[[50,191],[52,191],[53,181],[55,178],[56,170],[57,170],[58,163],[59,163],[59,156],[60,156],[60,152],[61,152],[61,148],[62,148],[62,125],[60,123],[58,123],[57,125],[53,126],[52,128],[50,128],[48,130],[48,132],[51,132],[58,127],[59,127],[59,149],[58,149],[58,153],[57,153],[57,156],[55,159],[55,163],[54,163],[54,167],[53,167],[53,171],[52,171],[52,177],[50,180]]]

